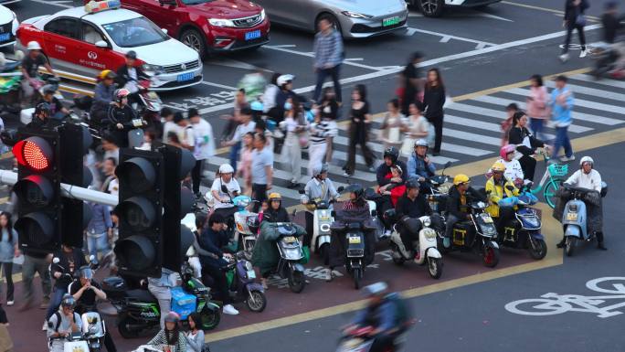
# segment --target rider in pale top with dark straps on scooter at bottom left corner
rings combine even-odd
[[[63,338],[82,329],[80,315],[74,312],[76,300],[70,294],[63,296],[58,312],[48,319],[48,347],[50,352],[63,352]]]

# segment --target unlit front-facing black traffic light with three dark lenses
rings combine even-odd
[[[164,162],[159,152],[124,148],[120,165],[120,238],[115,254],[120,273],[134,276],[161,276],[163,263]]]

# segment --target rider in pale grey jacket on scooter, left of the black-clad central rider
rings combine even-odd
[[[306,183],[306,187],[304,187],[304,194],[306,197],[303,197],[302,204],[307,205],[309,200],[313,201],[325,201],[331,203],[338,196],[338,192],[336,188],[334,188],[334,184],[332,180],[328,178],[328,169],[330,168],[327,164],[315,165],[312,168],[312,179]],[[309,210],[313,210],[313,208],[309,208]],[[304,236],[304,245],[311,245],[312,240],[312,223],[314,219],[312,219],[312,211],[306,211],[304,213],[306,218],[306,236]]]

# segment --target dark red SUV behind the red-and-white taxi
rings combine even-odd
[[[121,0],[167,29],[200,56],[220,51],[259,48],[270,40],[265,10],[245,0]]]

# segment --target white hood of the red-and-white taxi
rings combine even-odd
[[[122,52],[125,53],[130,50],[134,50],[138,59],[150,65],[175,65],[199,59],[196,50],[173,38],[143,47],[123,48]]]

